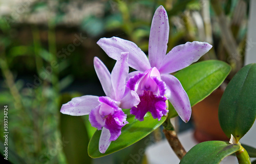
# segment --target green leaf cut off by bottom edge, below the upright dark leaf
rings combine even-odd
[[[238,144],[229,144],[224,141],[206,141],[201,142],[181,159],[180,164],[205,164],[205,163],[220,163],[226,156],[238,151]]]

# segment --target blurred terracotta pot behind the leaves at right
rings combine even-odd
[[[192,108],[192,118],[195,124],[194,137],[197,141],[229,140],[222,131],[218,109],[223,90],[217,89]]]

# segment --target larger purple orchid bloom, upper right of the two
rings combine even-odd
[[[136,91],[141,101],[131,109],[131,114],[140,121],[148,111],[152,113],[153,118],[159,120],[166,115],[167,98],[183,121],[187,122],[191,116],[188,95],[180,81],[170,73],[194,63],[212,46],[206,42],[187,42],[174,47],[166,54],[168,36],[168,16],[163,6],[160,6],[152,20],[148,59],[145,53],[129,40],[111,37],[101,38],[97,42],[113,59],[118,59],[121,52],[129,52],[128,64],[138,71],[129,74],[134,76],[127,81],[127,87]]]

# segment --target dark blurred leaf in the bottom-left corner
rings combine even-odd
[[[8,159],[8,160],[6,160],[5,163],[9,163],[9,162],[15,163],[15,164],[25,164],[26,163],[22,157],[18,156],[13,150],[11,150],[10,146],[8,146],[8,145],[5,146],[4,142],[1,140],[0,140],[0,151],[1,151],[1,155],[3,156],[3,157],[1,157],[2,161]],[[7,155],[5,155],[6,152],[7,152]],[[6,158],[6,159],[4,159],[4,158]]]

